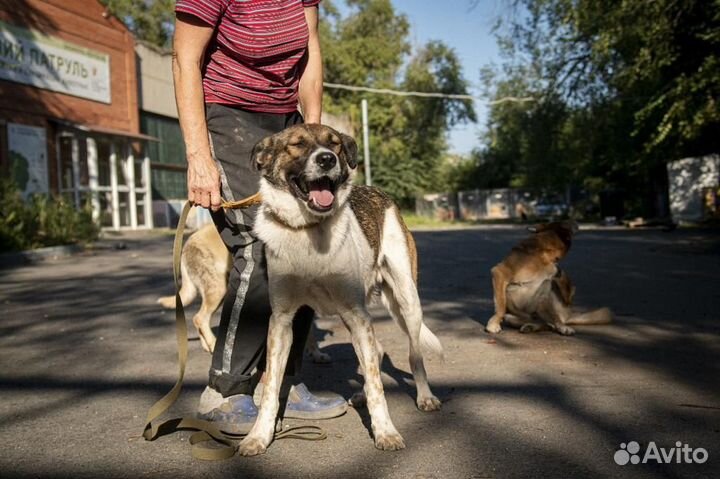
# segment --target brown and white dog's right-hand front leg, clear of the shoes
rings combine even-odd
[[[405,441],[390,419],[382,380],[380,379],[380,362],[376,350],[375,332],[367,311],[355,309],[341,314],[345,325],[354,338],[355,354],[362,364],[365,374],[365,397],[370,413],[375,447],[385,451],[396,451],[405,448]]]

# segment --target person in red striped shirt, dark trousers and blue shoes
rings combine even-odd
[[[271,311],[263,245],[252,230],[257,207],[223,210],[221,198],[257,191],[250,155],[258,141],[296,123],[320,123],[319,3],[178,0],[175,7],[173,77],[188,200],[210,208],[233,258],[198,414],[230,432],[249,431],[257,417],[252,394],[265,365]],[[313,316],[301,308],[293,323],[285,417],[326,419],[347,409],[341,396],[315,396],[299,380]]]

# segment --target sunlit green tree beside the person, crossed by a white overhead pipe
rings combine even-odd
[[[389,0],[348,1],[342,18],[323,2],[321,27],[325,79],[331,83],[397,90],[460,93],[467,83],[454,51],[432,41],[415,52],[409,25]],[[405,206],[415,195],[435,190],[447,130],[475,121],[468,100],[417,98],[327,89],[326,108],[349,113],[360,123],[362,98],[369,104],[370,157],[373,183]],[[362,170],[361,170],[362,171]]]

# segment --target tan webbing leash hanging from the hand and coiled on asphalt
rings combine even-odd
[[[221,206],[224,209],[249,208],[261,202],[260,193],[255,193],[240,201],[223,201]],[[187,323],[185,321],[185,309],[180,300],[180,259],[183,244],[185,223],[192,204],[188,201],[180,214],[175,240],[173,242],[173,279],[175,281],[175,335],[178,345],[178,378],[172,389],[157,401],[148,411],[145,420],[145,428],[142,437],[146,441],[154,441],[158,437],[172,434],[179,430],[196,431],[190,436],[192,456],[196,459],[207,461],[218,461],[228,459],[235,455],[238,449],[238,441],[244,434],[231,434],[220,430],[217,425],[209,421],[203,421],[194,417],[182,417],[168,419],[158,422],[158,419],[175,403],[182,390],[185,377],[185,366],[188,356]],[[275,433],[277,439],[305,439],[319,441],[325,439],[327,434],[317,426],[294,426]]]

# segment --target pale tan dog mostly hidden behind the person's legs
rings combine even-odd
[[[200,336],[200,344],[210,353],[215,349],[215,335],[210,329],[210,319],[225,298],[231,262],[230,253],[213,224],[205,225],[193,233],[182,250],[180,300],[183,306],[188,306],[200,292],[202,303],[193,316],[193,324]],[[174,309],[175,296],[162,297],[158,299],[158,303],[165,308]],[[314,362],[328,363],[330,356],[318,348],[314,329],[313,326],[313,330],[308,334],[305,351]]]

